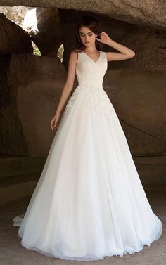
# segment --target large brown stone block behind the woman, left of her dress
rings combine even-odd
[[[4,75],[8,95],[0,109],[0,153],[46,157],[55,134],[51,119],[65,83],[63,64],[54,57],[12,54]]]

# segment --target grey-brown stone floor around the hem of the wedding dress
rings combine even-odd
[[[144,246],[141,252],[125,254],[123,257],[105,257],[99,261],[66,261],[63,259],[52,259],[25,249],[20,245],[17,237],[18,226],[13,226],[13,217],[23,214],[28,205],[30,197],[21,198],[8,202],[0,208],[0,265],[46,265],[46,264],[111,264],[111,265],[165,265],[166,264],[166,187],[153,186],[146,189],[148,201],[153,212],[162,221],[162,236]]]

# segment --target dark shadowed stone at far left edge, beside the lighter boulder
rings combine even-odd
[[[27,143],[15,102],[18,77],[12,75],[13,70],[9,70],[10,64],[11,54],[0,56],[0,153],[23,155],[27,150]]]

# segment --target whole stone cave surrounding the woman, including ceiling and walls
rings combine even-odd
[[[50,122],[67,77],[75,25],[87,14],[136,53],[132,60],[108,62],[103,88],[120,119],[148,200],[165,219],[165,13],[164,0],[0,1],[1,226],[9,226],[9,217],[25,210],[37,185],[55,135]],[[104,44],[103,51],[115,50]],[[76,86],[77,79],[73,91]],[[16,233],[13,227],[8,230]],[[11,237],[2,238],[6,236]],[[164,264],[165,240],[151,248],[151,265]],[[10,244],[1,246],[3,260],[9,259]],[[13,265],[20,252],[15,252]],[[141,254],[141,263],[129,257],[123,264],[150,264],[149,253]],[[31,264],[36,264],[34,257]],[[38,261],[45,264],[42,258]]]

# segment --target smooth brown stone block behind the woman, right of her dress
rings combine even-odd
[[[111,64],[111,63],[110,63]],[[103,86],[134,155],[165,155],[166,69],[108,70]]]

